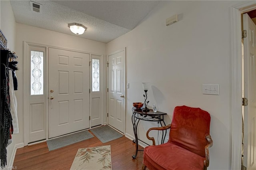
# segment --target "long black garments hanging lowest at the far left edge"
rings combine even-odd
[[[10,144],[12,116],[10,113],[10,95],[9,95],[9,69],[8,59],[9,50],[0,50],[0,159],[1,167],[7,164],[7,150],[6,147]]]

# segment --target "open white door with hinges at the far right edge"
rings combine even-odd
[[[256,169],[256,26],[248,16],[243,14],[244,30],[244,97],[248,106],[244,107],[244,166]]]

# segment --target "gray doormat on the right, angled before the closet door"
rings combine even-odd
[[[109,127],[108,125],[102,126],[102,127],[97,127],[90,129],[90,131],[102,142],[106,143],[111,140],[115,140],[118,138],[123,137],[124,135],[120,134],[113,128]]]

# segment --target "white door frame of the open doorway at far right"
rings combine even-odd
[[[241,14],[256,9],[255,1],[231,7],[231,169],[241,169],[242,156],[242,30]],[[240,149],[238,149],[240,148]]]

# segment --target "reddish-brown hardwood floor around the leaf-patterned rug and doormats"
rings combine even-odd
[[[18,170],[69,170],[75,158],[78,148],[92,146],[111,146],[112,170],[140,170],[142,166],[143,152],[138,151],[136,159],[136,144],[124,137],[102,143],[95,136],[88,140],[66,146],[64,148],[49,151],[46,142],[18,148],[13,166]],[[139,146],[140,150],[143,150]]]

